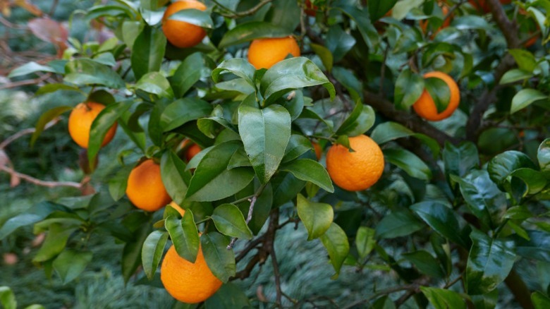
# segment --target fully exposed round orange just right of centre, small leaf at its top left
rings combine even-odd
[[[332,145],[326,152],[326,170],[338,187],[361,191],[374,185],[384,171],[384,154],[367,135],[349,138],[351,149]]]

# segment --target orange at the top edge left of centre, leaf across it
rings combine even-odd
[[[199,1],[181,0],[170,4],[168,8],[166,8],[164,16],[162,16],[162,32],[166,35],[166,39],[176,47],[193,47],[199,44],[206,36],[206,31],[200,26],[185,23],[185,21],[168,19],[173,13],[188,8],[195,8],[200,11],[206,11],[207,9],[207,7]]]

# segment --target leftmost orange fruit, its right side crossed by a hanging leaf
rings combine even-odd
[[[90,129],[92,128],[92,122],[97,117],[100,111],[105,108],[105,105],[96,102],[83,102],[78,104],[71,114],[68,120],[68,131],[71,138],[80,147],[88,147],[90,141]],[[111,126],[103,138],[102,147],[107,145],[114,137],[116,133],[116,123]]]

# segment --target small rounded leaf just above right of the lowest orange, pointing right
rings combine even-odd
[[[221,234],[243,238],[252,239],[252,231],[248,228],[243,213],[239,208],[233,204],[219,205],[214,208],[212,214],[212,221],[216,225],[216,229]]]

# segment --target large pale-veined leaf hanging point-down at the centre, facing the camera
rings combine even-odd
[[[250,95],[238,109],[240,138],[261,183],[267,183],[279,168],[291,138],[291,115],[279,104],[255,107]]]

